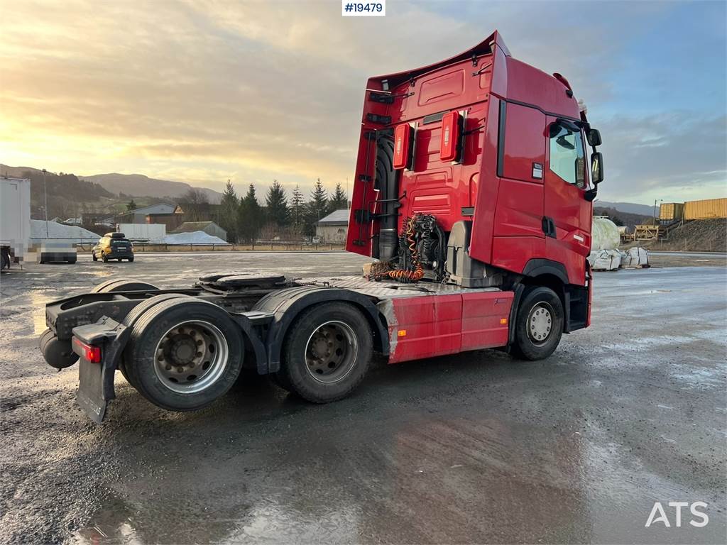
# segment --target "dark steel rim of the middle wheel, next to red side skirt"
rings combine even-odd
[[[305,343],[305,370],[318,382],[332,384],[348,376],[356,365],[358,339],[348,323],[322,323]]]

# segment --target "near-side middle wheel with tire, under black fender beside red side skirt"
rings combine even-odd
[[[276,382],[312,403],[340,400],[364,379],[372,347],[369,322],[356,307],[318,304],[287,331]]]

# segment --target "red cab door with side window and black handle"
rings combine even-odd
[[[586,201],[585,137],[572,121],[548,116],[543,231],[549,259],[566,267],[569,283],[585,283],[593,204]]]

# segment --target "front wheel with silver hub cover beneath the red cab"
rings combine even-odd
[[[513,355],[523,360],[542,360],[553,354],[563,336],[561,298],[550,288],[532,287],[523,293],[515,318]]]

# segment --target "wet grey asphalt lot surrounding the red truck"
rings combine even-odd
[[[378,363],[330,405],[246,377],[197,413],[162,411],[117,374],[102,426],[76,405],[77,368],[37,349],[47,301],[109,278],[355,274],[366,259],[79,255],[4,273],[0,541],[724,543],[727,267],[694,259],[596,273],[593,326],[542,362]],[[670,528],[645,527],[656,501]],[[708,524],[686,507],[677,528],[670,501],[704,501]]]

